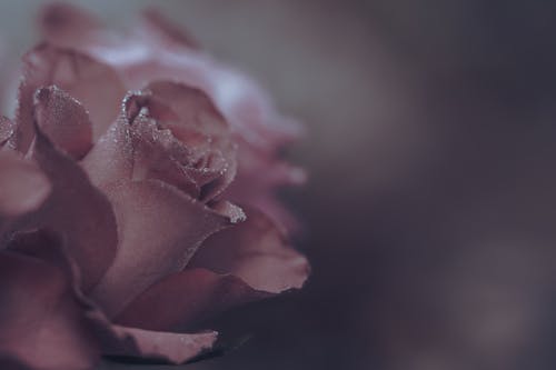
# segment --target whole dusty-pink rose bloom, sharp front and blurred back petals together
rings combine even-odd
[[[127,36],[59,4],[41,26],[0,120],[2,368],[181,363],[215,343],[182,333],[202,319],[300,288],[272,198],[302,180],[277,158],[297,129],[260,89],[153,12]]]

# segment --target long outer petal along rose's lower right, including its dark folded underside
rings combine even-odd
[[[133,300],[116,319],[153,330],[190,328],[232,307],[300,288],[309,267],[264,214],[210,237],[186,270]],[[160,312],[152,317],[151,312]]]

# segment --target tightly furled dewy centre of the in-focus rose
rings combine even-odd
[[[105,179],[98,182],[157,179],[208,201],[234,179],[235,154],[228,126],[205,93],[156,82],[126,97],[120,119],[85,167],[93,179]]]

